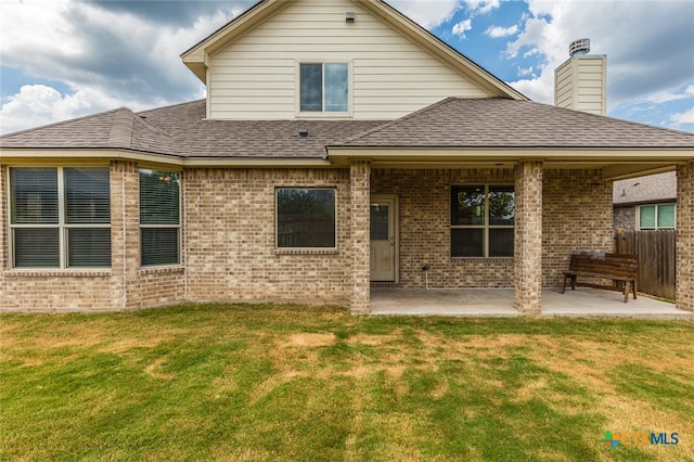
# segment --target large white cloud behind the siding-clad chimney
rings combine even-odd
[[[511,82],[529,98],[553,102],[554,69],[568,44],[591,39],[591,53],[607,55],[607,104],[634,100],[666,103],[694,85],[694,8],[683,1],[527,0],[529,17],[506,48],[510,59],[538,54],[538,77]],[[666,27],[653,27],[667,24]],[[666,51],[667,50],[667,51]]]

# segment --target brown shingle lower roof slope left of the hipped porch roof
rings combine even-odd
[[[124,149],[179,157],[324,157],[325,146],[384,120],[205,120],[205,101],[138,114],[125,107],[0,137],[9,149]],[[299,130],[308,137],[299,137]]]

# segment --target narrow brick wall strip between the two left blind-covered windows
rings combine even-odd
[[[131,285],[140,268],[140,177],[132,162],[111,163],[111,271],[112,296],[120,309],[137,306]],[[137,297],[137,296],[136,296]]]

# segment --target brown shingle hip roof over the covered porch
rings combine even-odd
[[[345,146],[369,147],[694,147],[694,133],[532,101],[449,98]]]

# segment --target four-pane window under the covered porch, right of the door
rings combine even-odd
[[[512,185],[451,187],[451,257],[513,257]]]

